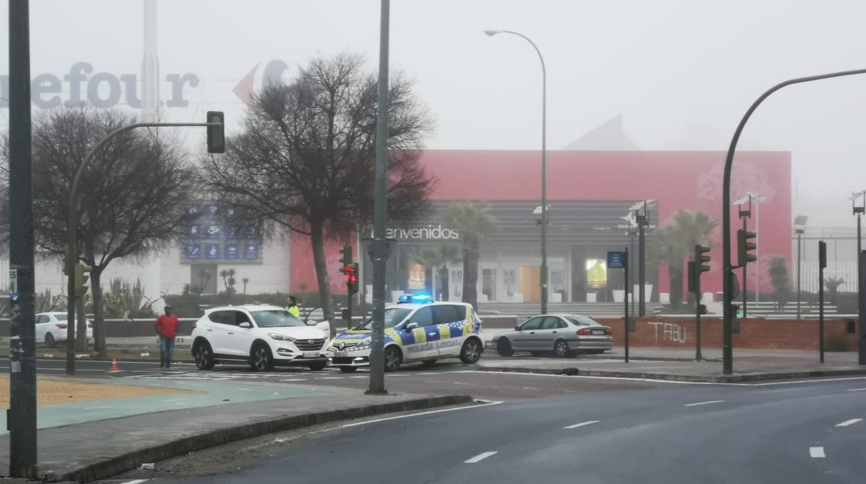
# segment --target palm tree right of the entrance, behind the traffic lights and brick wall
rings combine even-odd
[[[668,265],[670,307],[682,303],[682,273],[685,261],[695,244],[715,245],[713,230],[719,225],[701,210],[678,210],[668,225],[656,231],[656,242],[650,247],[650,259]]]

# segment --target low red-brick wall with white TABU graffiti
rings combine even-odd
[[[623,318],[596,318],[611,326],[617,345],[624,344]],[[857,334],[847,332],[849,319],[824,320],[824,341],[838,337],[849,351],[856,351]],[[638,318],[637,332],[629,345],[660,347],[694,347],[695,318]],[[856,324],[855,324],[856,331]],[[701,347],[721,348],[721,318],[701,319]],[[740,333],[734,334],[734,348],[772,350],[817,350],[818,320],[814,319],[743,319]]]

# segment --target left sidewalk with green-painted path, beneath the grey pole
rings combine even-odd
[[[51,481],[94,481],[175,455],[271,432],[388,412],[470,403],[468,396],[365,396],[358,390],[267,384],[87,379],[140,384],[194,395],[114,398],[39,409],[39,474]],[[182,407],[177,410],[178,407]],[[9,468],[9,433],[0,436],[0,469]]]

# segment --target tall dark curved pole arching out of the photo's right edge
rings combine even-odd
[[[734,298],[732,297],[733,293],[731,292],[731,169],[734,167],[734,152],[737,151],[737,143],[740,141],[740,135],[742,135],[743,129],[746,127],[746,122],[748,122],[749,118],[752,117],[752,113],[754,113],[755,110],[758,109],[760,103],[764,102],[766,98],[770,97],[770,94],[775,93],[782,87],[791,86],[792,84],[799,84],[801,82],[820,81],[823,79],[830,79],[833,77],[842,77],[854,74],[866,74],[866,69],[834,72],[830,74],[811,75],[809,77],[798,77],[796,79],[789,79],[788,81],[779,82],[779,84],[767,89],[764,94],[761,94],[759,98],[752,103],[752,106],[749,106],[748,110],[746,110],[746,113],[743,115],[743,118],[740,119],[740,124],[737,125],[737,129],[734,130],[734,137],[731,138],[731,145],[727,148],[727,156],[725,158],[725,170],[722,176],[721,184],[721,274],[722,288],[724,290],[724,339],[722,343],[721,355],[722,359],[724,360],[722,367],[726,375],[734,372],[734,335],[732,333],[731,325],[734,316],[731,311],[731,303],[734,300]],[[861,294],[863,294],[863,292]],[[866,360],[866,348],[863,348],[863,345],[860,345],[860,352],[860,363],[866,364],[866,361],[864,361]]]

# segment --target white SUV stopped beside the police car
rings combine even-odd
[[[245,362],[254,371],[275,365],[327,366],[327,323],[304,324],[276,306],[227,306],[207,310],[192,329],[192,355],[201,370]]]

